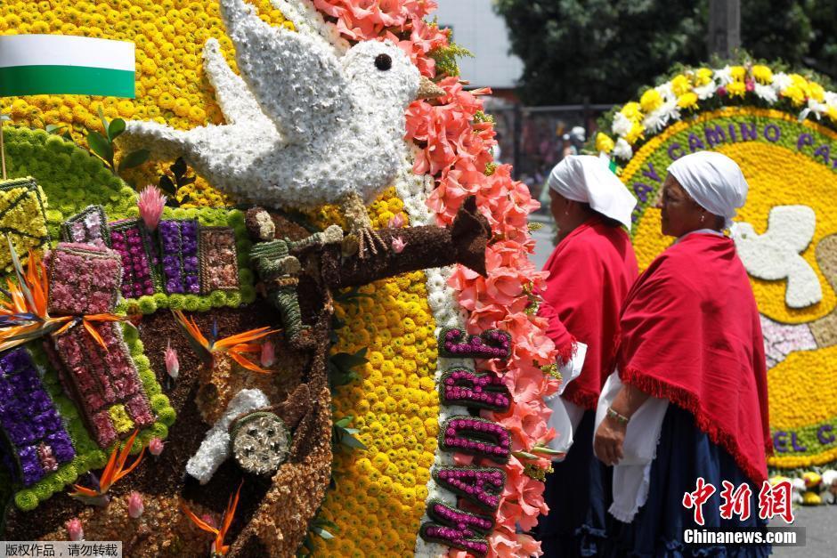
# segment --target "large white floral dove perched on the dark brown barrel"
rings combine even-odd
[[[265,23],[243,0],[220,4],[241,76],[215,39],[204,68],[227,124],[182,131],[132,121],[126,148],[183,156],[219,190],[264,206],[341,204],[361,246],[371,242],[363,203],[394,181],[405,109],[443,90],[390,41],[348,48],[309,0],[273,0],[298,32]]]

